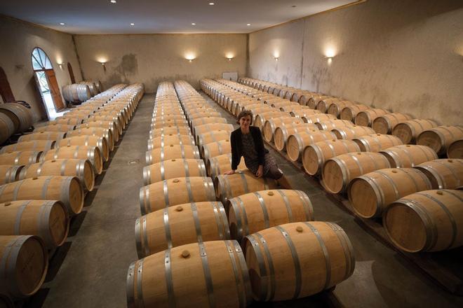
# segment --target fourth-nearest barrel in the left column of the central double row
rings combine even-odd
[[[143,167],[145,185],[184,176],[207,176],[204,161],[199,159],[162,160]]]

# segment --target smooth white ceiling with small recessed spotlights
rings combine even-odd
[[[0,13],[71,34],[249,33],[353,0],[1,0]],[[214,2],[214,6],[208,3]],[[293,7],[295,6],[295,7]],[[64,22],[66,25],[60,25]],[[130,23],[135,23],[130,26]],[[192,25],[192,22],[196,25]],[[247,24],[251,24],[247,26]]]

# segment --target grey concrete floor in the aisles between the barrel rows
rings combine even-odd
[[[204,95],[206,97],[206,95]],[[135,219],[140,216],[138,191],[154,95],[147,94],[116,147],[109,169],[89,195],[82,214],[72,224],[71,236],[51,262],[43,288],[25,307],[126,307],[126,272],[137,258]],[[234,123],[234,118],[208,99],[211,106]],[[445,292],[417,272],[395,251],[363,230],[353,216],[328,199],[309,178],[270,150],[294,189],[304,190],[316,220],[333,221],[349,235],[356,254],[354,274],[334,294],[345,307],[463,307],[463,297]],[[137,162],[130,164],[130,161]],[[93,200],[92,200],[93,199]],[[61,264],[62,261],[62,264]],[[313,300],[256,304],[256,307],[326,307]]]

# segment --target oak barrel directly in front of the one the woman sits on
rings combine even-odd
[[[283,223],[314,221],[314,208],[301,190],[262,190],[227,201],[231,238],[241,241],[246,235]]]

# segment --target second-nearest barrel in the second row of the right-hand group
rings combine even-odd
[[[403,146],[392,146],[380,153],[386,156],[392,168],[411,168],[422,162],[436,160],[437,154],[428,146],[415,146],[406,144]]]

